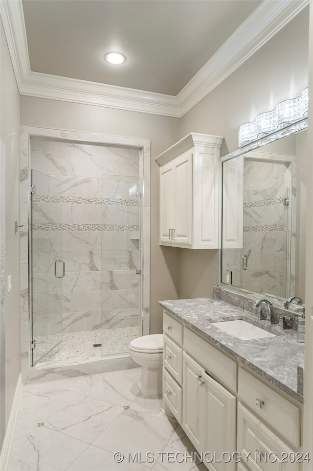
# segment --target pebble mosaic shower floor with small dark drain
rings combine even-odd
[[[63,334],[62,341],[55,348],[55,337],[41,336],[36,343],[36,358],[42,358],[35,365],[37,368],[45,366],[60,366],[67,363],[80,363],[89,358],[120,353],[128,353],[131,340],[138,337],[138,327],[121,327],[118,329],[87,330],[85,332],[72,332]],[[49,342],[52,350],[49,350]],[[101,347],[93,347],[101,343]]]

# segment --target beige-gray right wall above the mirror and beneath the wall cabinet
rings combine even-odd
[[[190,132],[224,136],[221,155],[236,150],[241,124],[308,86],[308,47],[306,7],[181,119],[181,137]],[[179,297],[212,296],[219,282],[217,251],[203,258],[189,252],[180,249]],[[195,274],[201,277],[197,284]]]

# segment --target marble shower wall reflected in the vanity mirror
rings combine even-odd
[[[243,249],[223,251],[223,271],[232,271],[232,284],[236,286],[286,297],[292,292],[294,280],[294,238],[291,240],[287,232],[295,224],[293,186],[291,207],[285,205],[291,190],[291,172],[284,164],[245,161],[244,165]],[[294,232],[291,227],[292,235]],[[246,270],[243,255],[247,256]]]

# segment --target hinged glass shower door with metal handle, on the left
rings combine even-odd
[[[31,172],[32,365],[62,341],[63,202],[62,182]]]

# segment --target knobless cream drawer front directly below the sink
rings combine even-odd
[[[237,391],[237,363],[185,328],[184,350],[197,359],[207,373],[219,380],[229,390]]]

